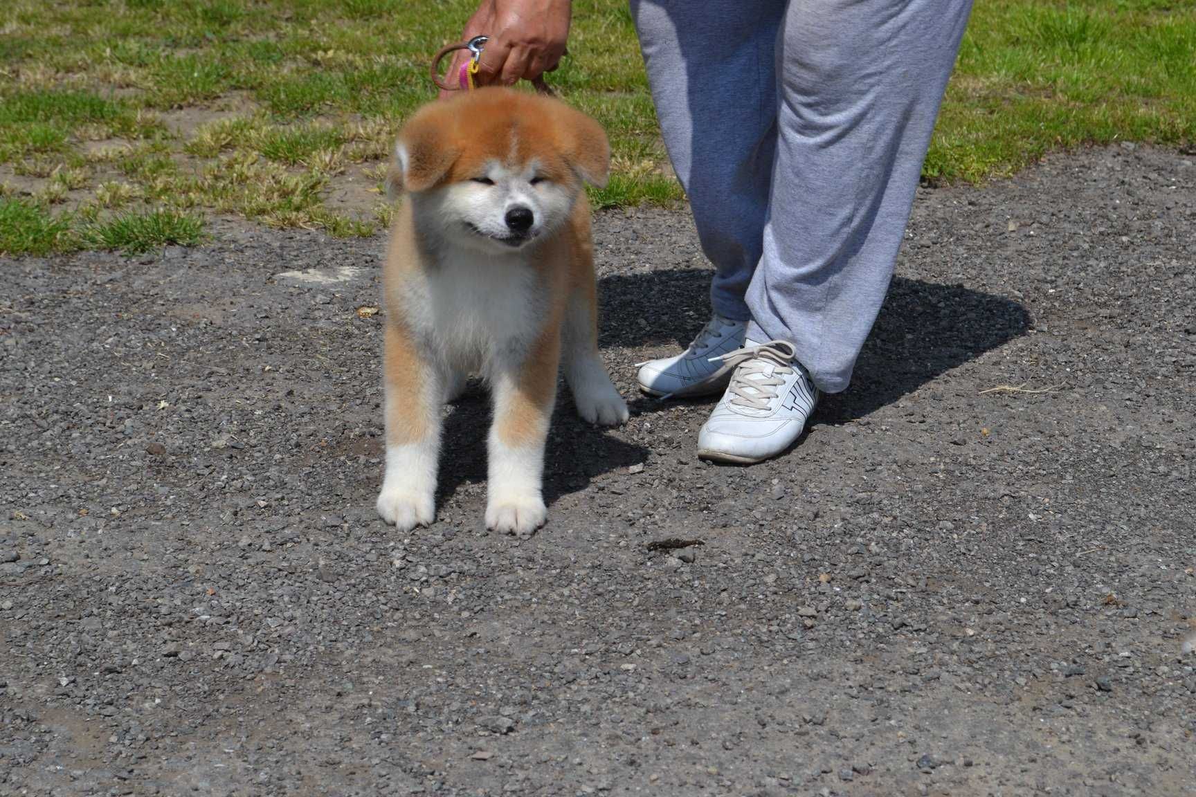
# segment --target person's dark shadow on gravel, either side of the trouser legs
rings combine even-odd
[[[709,317],[710,271],[678,269],[600,280],[603,348],[684,348]],[[823,423],[866,416],[935,376],[1024,335],[1030,312],[1005,296],[895,277],[852,387],[828,397]]]

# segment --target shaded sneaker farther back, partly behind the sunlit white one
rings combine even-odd
[[[672,357],[635,363],[640,390],[660,398],[710,396],[731,378],[731,366],[719,358],[740,348],[748,336],[748,321],[715,315],[697,333],[689,348]]]

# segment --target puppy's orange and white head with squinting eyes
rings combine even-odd
[[[422,223],[474,247],[506,251],[551,235],[585,182],[604,185],[602,127],[548,97],[480,88],[422,108],[403,127],[388,178]]]

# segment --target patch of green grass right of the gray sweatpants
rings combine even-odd
[[[976,4],[923,176],[978,182],[1117,140],[1190,145],[1194,53],[1190,4]]]

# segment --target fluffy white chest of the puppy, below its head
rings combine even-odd
[[[453,258],[426,269],[410,288],[408,319],[440,356],[459,366],[518,356],[543,323],[543,287],[519,262]]]

